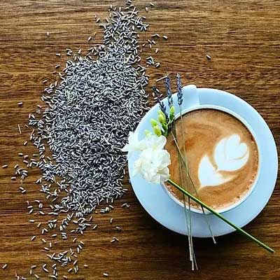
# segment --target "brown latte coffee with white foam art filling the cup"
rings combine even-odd
[[[185,188],[214,209],[224,209],[241,200],[251,189],[259,165],[258,146],[247,127],[229,113],[216,109],[186,113],[183,130],[179,119],[175,125],[181,151],[184,136],[190,177],[197,194],[189,181]],[[179,155],[171,134],[165,148],[171,155],[170,178],[182,184]],[[167,188],[183,200],[179,190],[172,186]],[[191,203],[200,208],[195,202]]]

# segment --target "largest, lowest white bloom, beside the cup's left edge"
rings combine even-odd
[[[163,183],[169,179],[170,155],[164,149],[146,148],[134,162],[133,176],[140,174],[148,183]]]

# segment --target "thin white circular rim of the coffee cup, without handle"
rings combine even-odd
[[[259,179],[259,176],[260,176],[260,169],[261,169],[260,148],[259,148],[259,145],[258,145],[258,141],[256,140],[255,132],[253,131],[252,127],[250,125],[248,125],[248,123],[246,122],[246,120],[244,120],[244,118],[241,118],[241,116],[239,116],[237,113],[235,113],[234,111],[232,111],[232,110],[230,110],[228,108],[225,108],[223,106],[218,106],[218,105],[211,105],[211,104],[197,104],[195,106],[190,106],[190,107],[184,109],[182,111],[182,115],[185,115],[186,113],[190,113],[191,111],[200,110],[200,109],[214,109],[214,110],[218,110],[218,111],[223,111],[223,112],[228,113],[231,116],[237,118],[237,120],[239,120],[243,125],[245,125],[247,130],[251,133],[253,139],[255,140],[255,144],[257,146],[257,149],[258,149],[258,172],[257,172],[257,174],[255,176],[255,181],[253,182],[250,190],[248,190],[247,193],[243,197],[241,197],[240,200],[238,200],[234,204],[231,204],[228,207],[224,207],[222,209],[215,210],[219,214],[222,214],[222,213],[225,213],[225,212],[228,212],[228,211],[230,211],[232,209],[237,208],[240,204],[244,203],[247,200],[247,198],[253,193],[253,190],[255,189],[255,186],[257,185],[258,179]],[[175,120],[177,120],[179,117],[180,117],[180,113],[177,113],[175,115]],[[174,202],[176,202],[176,204],[179,204],[180,207],[184,207],[183,202],[181,202],[181,200],[179,200],[177,197],[175,197],[175,195],[172,194],[172,192],[165,185],[165,183],[162,183],[162,188],[164,188],[164,190],[167,193],[167,195],[169,195],[169,197]],[[204,212],[203,212],[201,209],[197,209],[197,208],[194,208],[194,207],[190,207],[190,211],[193,211],[193,212],[195,212],[197,214],[204,214],[204,213],[210,214],[210,212],[207,211],[207,209],[204,209]]]

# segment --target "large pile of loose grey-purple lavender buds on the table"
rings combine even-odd
[[[87,214],[92,214],[102,202],[109,204],[102,213],[110,211],[113,200],[126,191],[122,184],[126,155],[121,148],[128,133],[148,110],[144,90],[148,76],[146,68],[139,65],[139,31],[146,31],[148,25],[138,13],[130,0],[126,8],[111,7],[109,19],[101,24],[104,28],[102,45],[90,48],[85,56],[80,55],[80,51],[74,54],[67,49],[66,54],[73,58],[66,62],[63,73],[59,73],[61,81],[45,88],[41,99],[46,109],[41,118],[29,114],[29,127],[34,128],[29,140],[38,148],[38,158],[26,157],[24,162],[27,167],[41,169],[42,176],[36,183],[50,201],[51,211],[43,213],[38,209],[37,214],[54,216],[47,227],[42,229],[41,223],[38,224],[41,235],[59,228],[62,239],[67,239],[66,228],[70,223],[76,225],[76,230],[71,232],[83,235],[87,228],[95,230],[97,225],[92,225],[92,216],[89,220],[85,218]],[[20,176],[23,183],[28,170],[17,167],[15,175]],[[25,192],[23,186],[21,188],[22,193]],[[41,202],[38,206],[42,208]],[[29,202],[27,208],[29,214],[34,213]],[[66,214],[66,218],[58,225],[56,216],[61,213]],[[31,241],[34,239],[36,236],[31,237]],[[45,246],[45,239],[41,240]],[[118,238],[113,237],[111,242],[115,241]],[[75,248],[60,253],[50,253],[51,245],[44,250],[48,258],[62,267],[72,263],[73,268],[68,272],[77,273],[77,253],[83,246],[80,241]],[[35,269],[32,267],[30,274]],[[46,270],[44,264],[43,271]],[[16,279],[24,278],[16,274]],[[58,279],[56,264],[52,265],[50,278]]]

